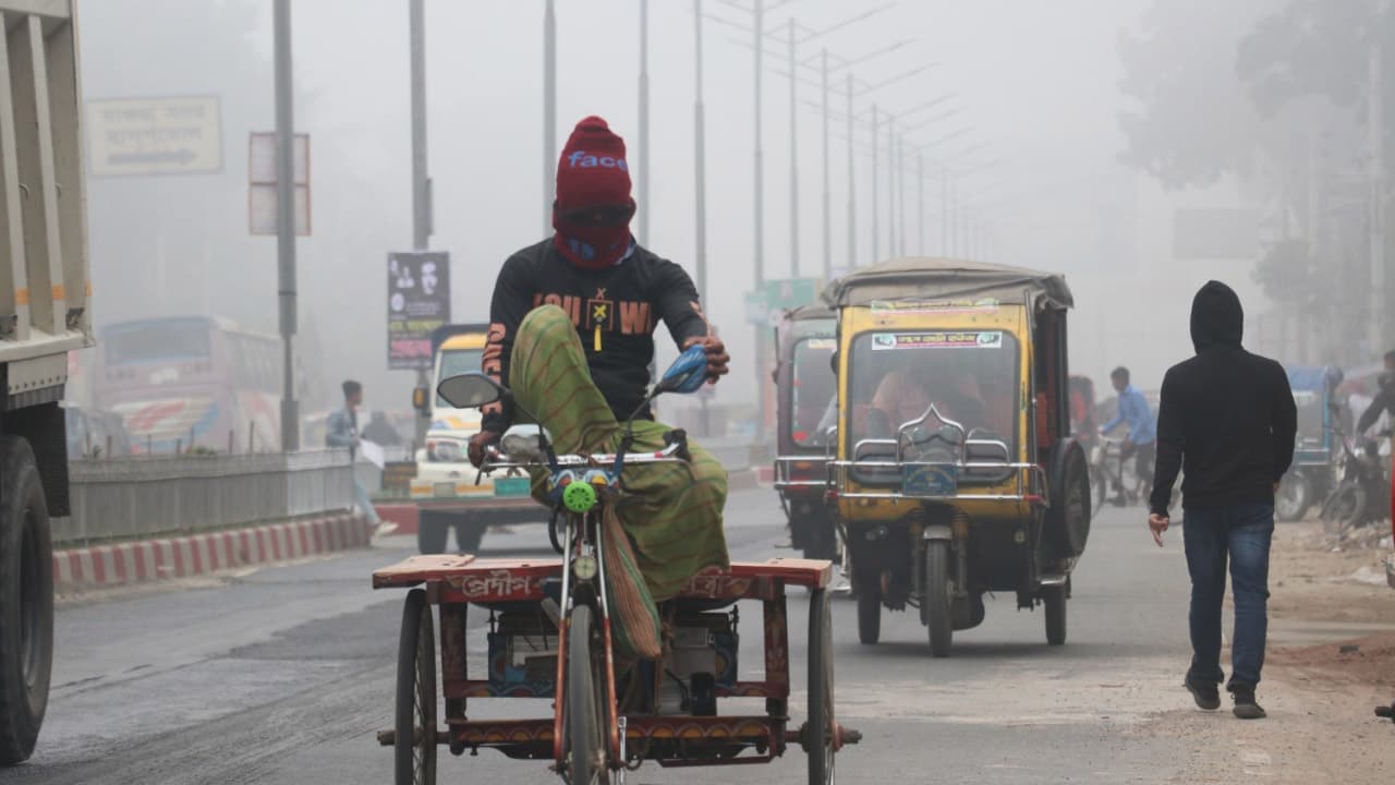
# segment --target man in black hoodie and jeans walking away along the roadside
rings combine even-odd
[[[1191,302],[1197,356],[1168,370],[1158,408],[1158,464],[1148,525],[1162,546],[1177,471],[1191,573],[1191,668],[1186,687],[1197,705],[1221,707],[1221,602],[1226,559],[1235,594],[1230,683],[1235,715],[1258,719],[1254,700],[1268,626],[1274,492],[1293,462],[1297,409],[1279,363],[1240,348],[1240,298],[1209,281]]]

